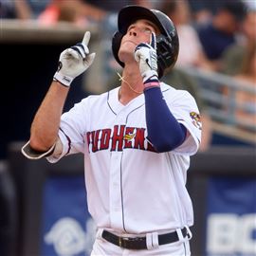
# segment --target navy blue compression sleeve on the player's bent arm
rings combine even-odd
[[[159,153],[169,152],[181,145],[187,129],[171,113],[159,87],[144,91],[148,138]]]

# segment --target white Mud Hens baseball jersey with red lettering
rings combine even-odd
[[[163,82],[161,90],[191,134],[172,152],[156,153],[147,140],[143,94],[122,105],[115,88],[82,100],[62,116],[64,151],[48,160],[84,154],[88,210],[99,228],[138,234],[192,226],[185,184],[190,155],[201,139],[199,112],[187,91]]]

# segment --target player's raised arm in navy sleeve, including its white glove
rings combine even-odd
[[[148,138],[158,153],[169,152],[183,143],[189,135],[170,111],[160,90],[157,74],[155,33],[151,34],[150,44],[139,44],[135,49],[135,59],[143,78],[146,123]]]

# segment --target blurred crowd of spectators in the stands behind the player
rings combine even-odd
[[[197,95],[196,82],[178,70],[178,67],[195,67],[230,76],[231,79],[256,87],[256,2],[253,0],[0,0],[2,19],[33,19],[46,26],[60,21],[85,27],[90,23],[100,24],[102,40],[111,41],[117,29],[116,17],[122,6],[137,4],[150,9],[160,9],[173,21],[179,35],[179,56],[174,71],[165,77],[165,82],[189,90],[199,103],[205,119],[205,137],[202,149],[210,144],[210,117],[206,103]],[[114,22],[113,22],[114,17]],[[105,75],[109,87],[118,78],[114,74],[119,66],[111,57],[109,46],[105,47],[107,59]],[[113,83],[112,83],[113,82]],[[117,85],[117,83],[115,84]],[[231,95],[228,88],[222,93]],[[256,127],[256,95],[236,90],[232,97],[239,105],[247,105],[250,111],[238,108],[235,116],[240,123],[250,122]],[[202,103],[201,103],[202,102]],[[205,144],[205,145],[204,145]]]

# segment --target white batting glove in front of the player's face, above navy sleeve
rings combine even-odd
[[[155,33],[151,33],[150,44],[141,43],[135,48],[135,59],[139,64],[144,85],[158,81]]]

